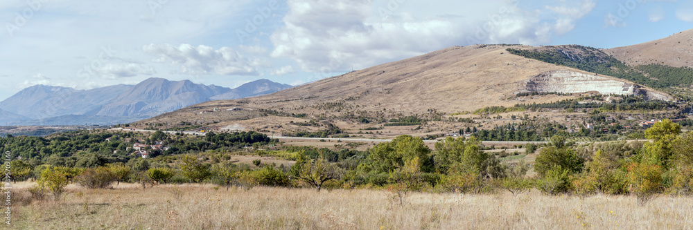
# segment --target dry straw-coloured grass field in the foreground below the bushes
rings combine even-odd
[[[15,202],[28,202],[28,182]],[[16,204],[14,229],[692,229],[693,198],[468,195],[389,191],[121,184],[70,185],[59,202]],[[21,201],[24,200],[24,201]],[[8,227],[3,224],[3,229]]]

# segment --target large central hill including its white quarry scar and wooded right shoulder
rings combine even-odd
[[[543,59],[545,54],[550,58]],[[313,137],[343,132],[394,137],[441,135],[470,126],[494,128],[514,122],[515,118],[508,117],[534,117],[535,121],[541,119],[542,127],[556,132],[556,125],[567,133],[568,126],[604,123],[603,118],[590,115],[597,109],[676,108],[672,95],[635,82],[642,78],[625,74],[630,69],[622,72],[609,67],[617,63],[620,61],[606,52],[584,46],[456,46],[260,97],[203,102],[133,125]],[[556,110],[568,108],[572,114]],[[581,113],[573,113],[577,109]],[[489,116],[495,113],[502,116]],[[616,115],[606,115],[611,116]],[[623,126],[635,126],[631,123],[648,115],[622,113],[620,117],[629,117],[622,119]]]

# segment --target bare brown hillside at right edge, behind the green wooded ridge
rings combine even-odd
[[[604,52],[631,66],[662,64],[693,67],[693,30],[643,44],[611,48]]]

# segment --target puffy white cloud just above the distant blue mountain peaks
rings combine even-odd
[[[149,44],[142,47],[144,52],[157,55],[155,62],[169,62],[180,66],[179,73],[187,75],[243,75],[256,76],[258,66],[266,66],[264,61],[249,59],[240,52],[228,47],[218,50],[209,46],[181,44]]]

